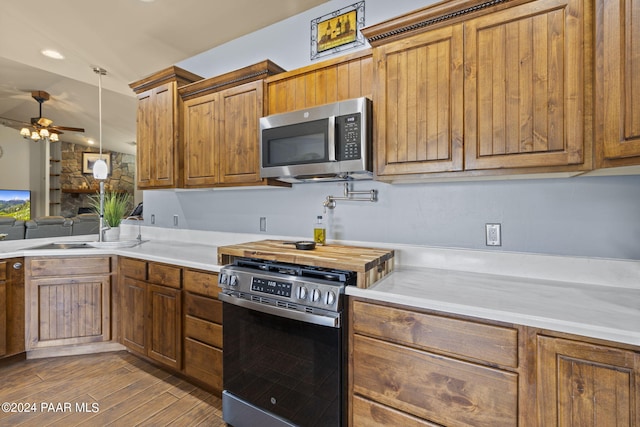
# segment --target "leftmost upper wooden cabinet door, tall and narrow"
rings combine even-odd
[[[141,188],[175,187],[177,168],[176,84],[138,95],[137,164]]]

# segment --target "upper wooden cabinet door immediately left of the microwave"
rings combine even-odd
[[[220,92],[220,183],[260,182],[258,122],[264,111],[263,82]]]

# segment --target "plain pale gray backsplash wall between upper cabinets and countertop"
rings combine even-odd
[[[378,190],[378,201],[338,201],[328,210],[329,239],[494,251],[640,259],[640,176],[353,184]],[[145,224],[311,238],[315,216],[343,184],[288,189],[152,190]],[[502,224],[502,246],[485,246],[485,223]]]

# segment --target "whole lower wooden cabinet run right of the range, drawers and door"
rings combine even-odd
[[[640,347],[350,298],[351,426],[640,426]]]

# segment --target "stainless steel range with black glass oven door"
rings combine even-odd
[[[356,273],[238,258],[218,280],[224,421],[342,425],[343,295]]]

